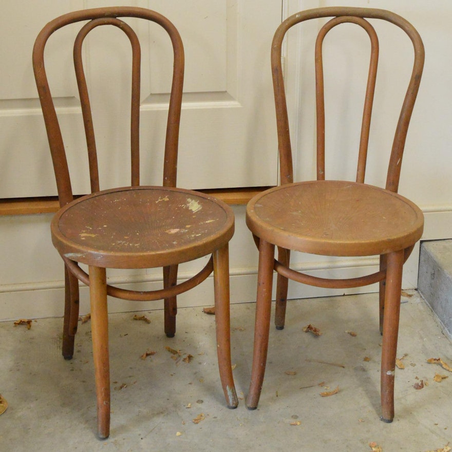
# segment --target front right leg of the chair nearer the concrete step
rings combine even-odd
[[[392,422],[394,419],[394,376],[396,372],[403,256],[403,250],[389,253],[387,256],[381,363],[381,419],[384,422]]]

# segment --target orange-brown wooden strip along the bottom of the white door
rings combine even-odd
[[[230,205],[246,205],[248,201],[263,190],[271,187],[240,187],[236,189],[198,190],[221,199]],[[0,216],[31,215],[55,213],[59,209],[58,197],[10,198],[0,199]]]

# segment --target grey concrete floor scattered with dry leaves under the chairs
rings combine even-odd
[[[441,357],[452,365],[452,343],[418,293],[409,293],[401,308],[398,356],[405,355],[405,369],[396,372],[392,424],[379,420],[376,294],[289,302],[286,328],[271,328],[255,411],[242,399],[250,378],[254,304],[231,307],[234,378],[241,398],[235,410],[222,396],[214,316],[201,308],[180,309],[176,337],[169,339],[162,333],[161,310],[140,313],[150,324],[135,321],[133,313],[110,315],[114,383],[110,438],[104,441],[95,434],[89,322],[80,325],[77,352],[69,362],[61,356],[62,319],[39,319],[30,330],[0,323],[0,393],[9,403],[0,416],[0,450],[365,452],[375,442],[384,452],[442,451],[449,442],[452,446],[452,373],[426,360]],[[309,323],[323,335],[303,332]],[[177,362],[165,346],[194,359]],[[157,353],[140,359],[146,350]],[[449,378],[437,383],[436,372]],[[416,390],[420,380],[424,387]],[[337,386],[334,396],[319,395]],[[201,413],[205,419],[194,424]]]

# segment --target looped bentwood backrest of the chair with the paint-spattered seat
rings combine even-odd
[[[166,125],[165,156],[163,167],[163,185],[176,186],[177,150],[179,140],[179,122],[182,103],[182,86],[184,75],[184,51],[180,35],[175,26],[166,17],[155,11],[136,7],[110,7],[75,11],[64,14],[49,22],[39,33],[33,48],[33,70],[37,90],[41,101],[44,121],[47,129],[53,169],[60,205],[63,206],[73,199],[61,128],[56,116],[51,92],[44,67],[44,48],[49,36],[65,25],[80,21],[89,21],[79,31],[73,48],[74,68],[80,94],[85,136],[88,148],[89,175],[91,192],[99,191],[99,170],[95,134],[92,123],[91,107],[88,97],[86,78],[82,64],[82,44],[86,35],[101,25],[113,25],[127,35],[132,50],[132,83],[131,83],[131,123],[130,123],[130,154],[131,154],[131,185],[140,184],[140,150],[139,150],[139,120],[140,120],[140,66],[141,50],[138,37],[134,30],[118,17],[137,17],[155,22],[163,27],[170,36],[173,52],[173,79],[170,104]]]

